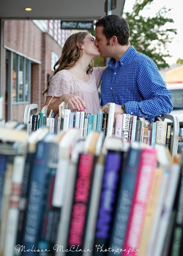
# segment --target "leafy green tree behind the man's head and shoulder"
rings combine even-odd
[[[153,0],[136,0],[132,13],[126,12],[123,17],[129,23],[130,43],[134,48],[152,58],[159,68],[169,67],[165,58],[171,55],[166,45],[172,42],[177,30],[164,27],[165,24],[174,22],[173,19],[167,17],[171,9],[165,6],[157,12],[155,17],[140,15],[140,11],[152,2]]]

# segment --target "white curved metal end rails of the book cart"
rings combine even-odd
[[[31,111],[34,112],[34,114],[37,112],[38,105],[37,104],[29,104],[26,105],[24,116],[23,116],[23,123],[27,125],[27,132],[29,132],[29,122],[31,117]],[[171,148],[170,152],[172,154],[172,157],[177,154],[178,149],[178,138],[179,138],[179,121],[177,116],[172,116],[170,114],[163,113],[161,115],[161,119],[166,122],[172,122],[173,123],[173,129],[171,131]]]

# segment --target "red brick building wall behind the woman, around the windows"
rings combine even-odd
[[[47,33],[41,32],[31,20],[6,20],[4,22],[4,45],[36,61],[31,62],[31,102],[37,103],[39,111],[46,98],[43,92],[47,88],[47,75],[52,76],[51,51],[58,56],[62,48]],[[6,88],[6,49],[4,49],[2,96],[5,101]],[[28,103],[28,104],[29,104]],[[4,116],[7,119],[7,106],[4,105]],[[12,106],[12,120],[23,121],[25,104]]]

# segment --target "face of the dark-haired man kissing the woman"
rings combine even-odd
[[[103,26],[95,28],[95,45],[98,47],[101,57],[107,58],[110,56],[110,45],[107,45],[106,36],[103,35]]]

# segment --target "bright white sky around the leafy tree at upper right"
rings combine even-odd
[[[152,17],[155,15],[163,6],[172,9],[169,12],[169,17],[174,20],[174,24],[171,25],[172,28],[177,29],[177,35],[175,35],[172,43],[167,44],[170,55],[172,57],[166,58],[166,62],[169,65],[175,64],[177,58],[183,59],[183,9],[180,3],[182,0],[154,0],[150,4],[150,9],[143,10],[141,15],[145,17]],[[132,7],[135,0],[126,0],[123,12],[132,11]]]

